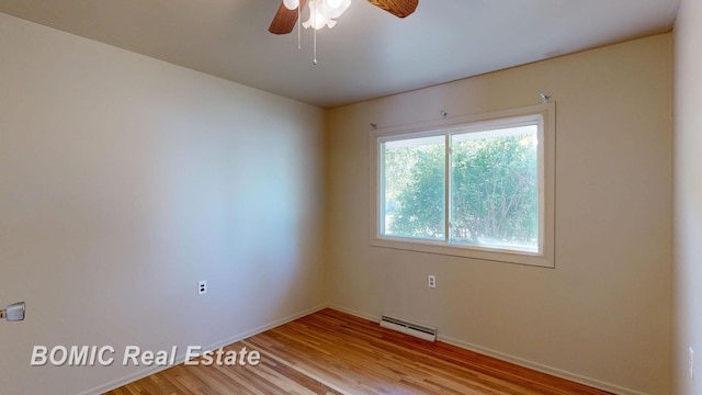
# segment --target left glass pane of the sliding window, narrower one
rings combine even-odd
[[[381,151],[381,234],[444,240],[445,137],[385,142]]]

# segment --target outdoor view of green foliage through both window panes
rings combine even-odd
[[[537,251],[537,126],[450,135],[450,149],[445,140],[384,143],[384,235]]]

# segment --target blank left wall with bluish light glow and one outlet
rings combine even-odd
[[[325,303],[321,110],[5,14],[0,54],[0,393],[143,369],[34,345],[184,352]]]

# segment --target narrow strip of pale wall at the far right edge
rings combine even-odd
[[[683,0],[675,27],[672,393],[702,394],[702,3]],[[695,351],[690,379],[688,349]]]

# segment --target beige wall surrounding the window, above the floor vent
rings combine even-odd
[[[511,109],[541,92],[557,102],[555,269],[369,246],[370,123]],[[668,393],[669,34],[335,109],[327,122],[333,305],[435,325],[444,339],[620,393]]]

